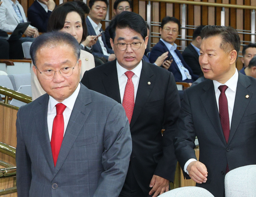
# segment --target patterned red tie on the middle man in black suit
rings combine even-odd
[[[126,71],[126,73],[124,74],[126,75],[128,80],[124,90],[124,99],[122,105],[124,107],[126,116],[130,124],[134,108],[134,85],[132,83],[132,76],[134,75],[134,73],[132,71]]]

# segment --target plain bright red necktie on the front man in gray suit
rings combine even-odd
[[[51,139],[51,147],[52,147],[52,157],[54,161],[54,166],[56,166],[56,162],[58,159],[58,155],[60,152],[60,147],[63,140],[64,135],[64,118],[63,112],[66,106],[62,103],[56,104],[56,116],[53,120],[52,125],[52,139]]]

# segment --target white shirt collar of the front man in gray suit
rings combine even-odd
[[[67,108],[69,108],[70,110],[73,110],[74,104],[76,102],[76,98],[80,91],[80,87],[81,87],[81,85],[79,83],[76,90],[74,91],[74,93],[72,95],[70,95],[70,97],[68,97],[67,99],[65,99],[61,102],[62,104],[66,105]],[[50,102],[51,112],[52,112],[53,108],[55,107],[55,105],[60,103],[51,96],[49,96],[49,102]]]

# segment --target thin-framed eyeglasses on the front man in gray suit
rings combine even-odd
[[[76,63],[78,63],[78,61],[76,61]],[[75,66],[76,66],[76,64],[74,65],[74,67],[66,66],[66,67],[63,67],[62,69],[60,69],[59,71],[54,71],[52,69],[46,69],[42,72],[40,72],[39,70],[38,71],[40,72],[40,74],[42,75],[42,77],[44,79],[52,79],[55,76],[56,72],[60,72],[60,75],[62,75],[63,77],[70,77],[73,74],[73,70],[74,70]],[[38,68],[36,67],[36,69],[38,69]]]

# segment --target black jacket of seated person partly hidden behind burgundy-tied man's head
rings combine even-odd
[[[203,72],[201,70],[198,60],[199,55],[194,47],[191,45],[191,43],[183,51],[182,57],[184,61],[188,64],[188,66],[192,69],[195,75],[203,76]]]

